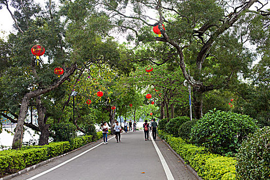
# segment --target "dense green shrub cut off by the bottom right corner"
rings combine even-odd
[[[250,134],[237,155],[239,179],[270,179],[270,127]]]

